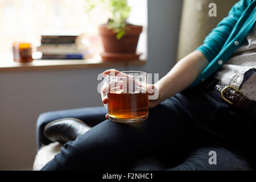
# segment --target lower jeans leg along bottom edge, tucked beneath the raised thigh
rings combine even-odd
[[[211,153],[216,152],[216,164],[210,163],[209,158]],[[212,160],[210,160],[212,161]],[[236,154],[231,150],[218,146],[204,146],[192,150],[187,159],[176,167],[168,168],[159,160],[152,158],[140,159],[132,164],[128,169],[133,171],[225,171],[225,170],[239,170],[248,171],[253,170],[244,156]]]

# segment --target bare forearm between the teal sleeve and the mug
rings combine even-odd
[[[207,65],[208,60],[200,51],[194,51],[181,59],[166,76],[156,82],[159,103],[186,89]]]

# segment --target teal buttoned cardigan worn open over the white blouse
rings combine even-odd
[[[208,66],[189,86],[199,84],[220,68],[240,46],[256,20],[256,0],[241,0],[229,11],[228,16],[205,38],[196,50],[209,61]]]

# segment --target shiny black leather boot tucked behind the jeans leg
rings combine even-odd
[[[75,140],[78,135],[84,134],[90,128],[80,119],[62,118],[49,122],[44,127],[44,135],[52,142],[65,144]]]

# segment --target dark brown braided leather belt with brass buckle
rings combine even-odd
[[[250,114],[250,117],[256,121],[256,101],[249,100],[243,96],[240,90],[223,84],[221,81],[218,81],[214,85],[214,89],[218,90],[221,93],[221,97],[228,104],[242,109]]]

